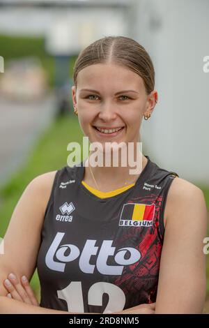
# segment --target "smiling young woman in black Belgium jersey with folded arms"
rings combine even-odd
[[[75,114],[90,142],[103,153],[107,142],[136,151],[141,121],[157,103],[144,47],[123,36],[97,40],[79,54],[74,81]],[[120,161],[83,164],[42,174],[22,194],[4,238],[0,312],[201,313],[202,191],[149,156],[137,174]],[[40,305],[29,287],[36,267]]]

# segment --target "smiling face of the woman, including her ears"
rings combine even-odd
[[[144,81],[117,64],[94,64],[79,71],[72,100],[90,142],[138,142],[144,114],[152,112],[157,92],[146,94]]]

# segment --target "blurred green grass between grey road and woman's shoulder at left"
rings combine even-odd
[[[31,150],[29,159],[18,172],[13,174],[10,181],[1,188],[0,206],[0,237],[6,232],[13,210],[27,184],[39,174],[58,170],[67,165],[67,151],[69,142],[79,142],[82,145],[82,131],[79,128],[77,117],[63,117],[56,119],[52,126],[38,140],[35,149]],[[31,281],[33,290],[38,292],[39,281],[37,272]]]

